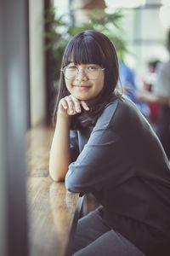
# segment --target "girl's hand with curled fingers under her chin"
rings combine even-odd
[[[84,108],[85,110],[87,111],[89,110],[88,104],[86,102],[80,101],[72,95],[65,96],[65,98],[59,101],[58,113],[65,116],[81,113],[82,111],[81,105],[82,105],[82,108]]]

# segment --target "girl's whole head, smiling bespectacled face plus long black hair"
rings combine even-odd
[[[71,127],[78,125],[77,119],[82,119],[81,123],[93,124],[108,102],[111,102],[112,92],[116,88],[118,79],[118,61],[116,49],[110,39],[95,31],[80,32],[73,37],[65,48],[63,57],[62,72],[60,73],[59,95],[54,109],[54,122],[60,99],[65,96],[74,96],[80,101],[88,101],[90,111],[84,111],[80,116],[71,119]],[[105,50],[107,48],[111,50]],[[80,69],[75,79],[67,77],[68,69]],[[95,77],[89,73],[95,73]],[[115,72],[112,72],[114,70]],[[88,75],[87,75],[88,72]],[[69,72],[70,73],[70,72]],[[74,77],[73,77],[74,78]],[[67,97],[67,99],[69,99]],[[63,100],[65,102],[65,100]],[[72,99],[65,102],[68,109],[72,105]],[[94,104],[95,102],[95,104]],[[81,102],[81,105],[84,102]],[[74,104],[73,104],[74,105]],[[93,111],[91,111],[93,109]],[[74,110],[74,109],[73,109]],[[71,109],[70,109],[71,111]]]

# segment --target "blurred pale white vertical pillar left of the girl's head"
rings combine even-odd
[[[31,126],[45,117],[43,0],[29,1]]]

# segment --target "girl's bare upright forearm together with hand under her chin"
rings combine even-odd
[[[84,109],[89,109],[86,102],[78,101],[74,96],[66,96],[59,102],[57,123],[49,157],[49,173],[56,182],[65,180],[68,166],[71,164],[71,115],[81,112],[80,104]]]

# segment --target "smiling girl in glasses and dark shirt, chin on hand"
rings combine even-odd
[[[156,134],[116,90],[116,50],[96,31],[65,49],[49,172],[101,207],[81,218],[74,256],[169,256],[170,170]]]

